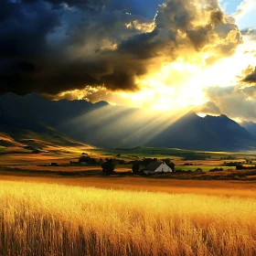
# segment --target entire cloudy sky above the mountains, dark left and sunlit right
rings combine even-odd
[[[0,94],[256,122],[256,0],[0,6]]]

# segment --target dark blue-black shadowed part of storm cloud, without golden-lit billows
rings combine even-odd
[[[101,47],[104,40],[113,45],[138,33],[126,24],[133,19],[148,23],[146,18],[108,11],[95,15],[91,9],[101,1],[66,1],[79,7],[73,10],[48,4],[62,1],[1,1],[6,12],[0,23],[0,93],[58,94],[96,84],[136,89],[134,76],[145,72],[144,65],[119,50]],[[81,4],[87,4],[87,10],[81,10]],[[23,67],[27,63],[33,67],[30,72]]]

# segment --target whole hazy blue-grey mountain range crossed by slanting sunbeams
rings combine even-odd
[[[106,101],[48,101],[37,93],[7,93],[0,96],[0,146],[45,138],[50,144],[101,147],[145,145],[208,151],[256,147],[255,123],[242,123],[242,127],[223,114],[202,118],[187,112],[177,116]]]

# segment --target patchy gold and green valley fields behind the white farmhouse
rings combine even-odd
[[[204,172],[216,167],[222,167],[224,170],[235,169],[235,167],[225,166],[229,162],[246,163],[250,159],[253,163],[256,154],[253,152],[203,152],[183,150],[177,148],[153,148],[153,147],[134,147],[134,148],[93,148],[89,146],[42,146],[43,150],[37,155],[31,154],[31,150],[23,147],[0,146],[0,165],[42,165],[56,162],[59,165],[69,165],[70,161],[77,162],[82,153],[88,154],[91,158],[105,159],[115,158],[124,160],[126,165],[116,165],[117,169],[132,170],[132,162],[134,160],[143,160],[143,158],[157,158],[158,160],[169,158],[176,165],[176,170],[196,171],[201,168]],[[118,163],[118,162],[117,162]],[[101,167],[101,165],[97,165]],[[71,166],[70,166],[71,167]],[[141,169],[144,165],[141,165]],[[118,171],[123,171],[118,170]]]

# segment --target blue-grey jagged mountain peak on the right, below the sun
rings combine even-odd
[[[256,140],[251,133],[226,115],[207,115],[201,118],[191,112],[149,143],[151,146],[165,144],[185,149],[228,151],[253,148]]]

